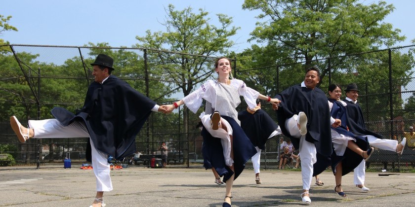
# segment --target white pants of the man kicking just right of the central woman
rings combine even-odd
[[[305,135],[300,135],[300,130],[297,126],[298,115],[293,115],[286,120],[286,129],[289,131],[291,137],[300,139],[300,154],[301,154],[301,177],[303,181],[303,190],[309,190],[313,178],[313,165],[317,162],[317,151],[314,143],[305,140]]]

